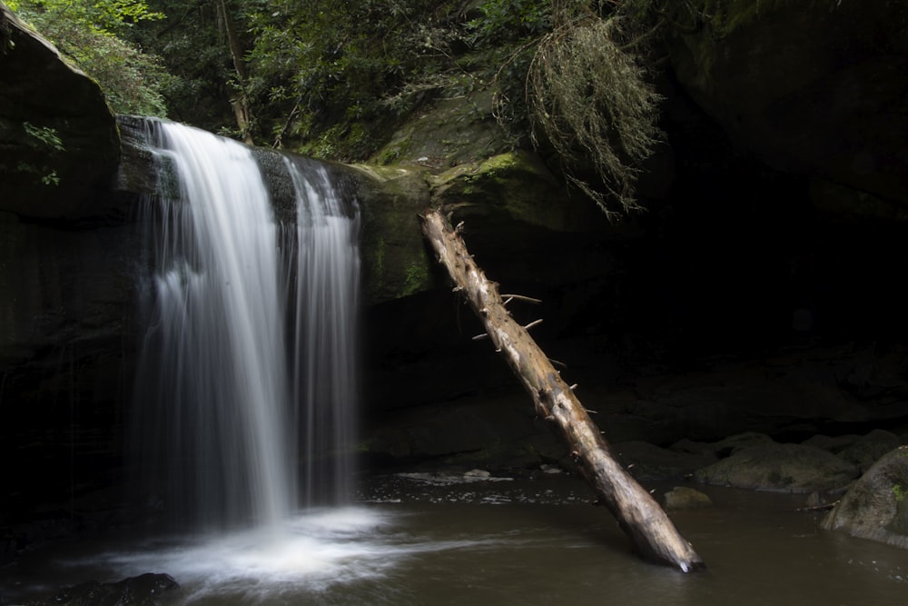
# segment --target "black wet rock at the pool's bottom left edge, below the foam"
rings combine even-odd
[[[155,606],[180,585],[169,574],[151,572],[114,583],[88,581],[56,594],[47,604],[70,606]],[[39,602],[40,603],[40,602]]]

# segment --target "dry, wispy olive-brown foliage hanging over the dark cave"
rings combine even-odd
[[[616,219],[640,209],[639,166],[660,138],[646,35],[611,2],[553,0],[552,15],[527,78],[533,140],[551,144],[568,179]],[[597,185],[582,172],[595,174]]]

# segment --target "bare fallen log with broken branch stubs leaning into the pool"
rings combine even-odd
[[[439,211],[426,214],[422,229],[439,263],[457,284],[456,290],[465,294],[496,350],[505,356],[529,392],[538,415],[551,422],[568,442],[577,468],[597,494],[597,502],[617,518],[635,550],[647,560],[680,571],[701,568],[704,563],[691,544],[652,495],[615,460],[577,396],[526,328],[510,316],[498,285],[489,282],[473,262],[458,230],[452,230]]]

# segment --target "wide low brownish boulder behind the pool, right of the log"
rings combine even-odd
[[[800,444],[762,444],[735,452],[694,473],[697,482],[758,491],[833,491],[854,480],[857,468],[834,454]]]

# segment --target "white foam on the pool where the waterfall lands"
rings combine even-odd
[[[377,580],[419,553],[481,546],[488,539],[434,541],[401,530],[400,514],[350,506],[308,510],[275,529],[173,537],[107,551],[69,566],[102,566],[115,578],[167,571],[179,601],[273,601]],[[500,542],[500,541],[496,541]]]

